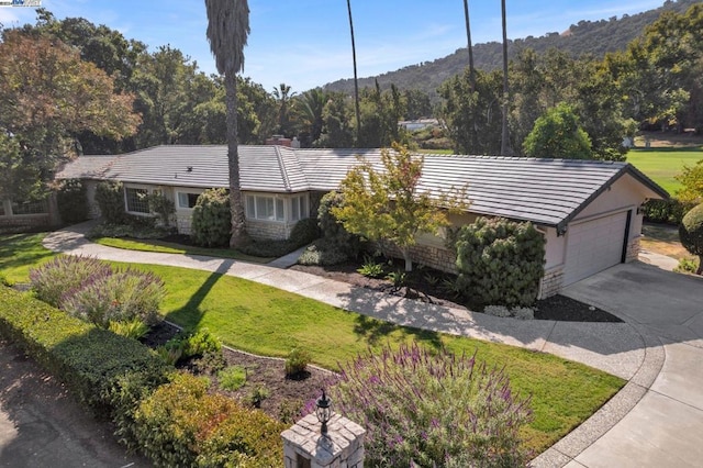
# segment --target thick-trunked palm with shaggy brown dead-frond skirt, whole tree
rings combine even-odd
[[[249,35],[247,0],[205,0],[208,41],[215,57],[217,71],[224,75],[227,104],[227,166],[230,170],[230,207],[232,237],[230,246],[248,241],[244,203],[239,190],[239,153],[237,140],[237,79],[244,68],[244,46]]]

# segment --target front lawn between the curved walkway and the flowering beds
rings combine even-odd
[[[42,235],[0,236],[0,271],[26,281],[27,269],[53,256]],[[625,383],[617,377],[522,348],[395,326],[239,278],[183,268],[132,265],[159,275],[168,291],[163,312],[185,327],[208,327],[225,344],[268,356],[308,349],[315,364],[335,369],[369,347],[417,341],[456,353],[477,353],[505,368],[514,390],[532,395],[534,421],[526,445],[540,453],[589,417]]]

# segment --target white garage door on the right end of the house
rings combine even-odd
[[[569,224],[563,286],[622,261],[627,212]]]

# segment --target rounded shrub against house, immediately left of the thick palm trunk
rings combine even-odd
[[[230,244],[232,214],[225,189],[205,190],[193,207],[191,238],[203,247],[223,247]]]

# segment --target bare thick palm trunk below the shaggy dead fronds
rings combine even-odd
[[[237,76],[224,76],[225,99],[227,101],[227,167],[230,169],[230,208],[232,213],[232,236],[230,247],[239,247],[249,241],[244,218],[244,202],[239,190],[239,141],[237,137]]]

